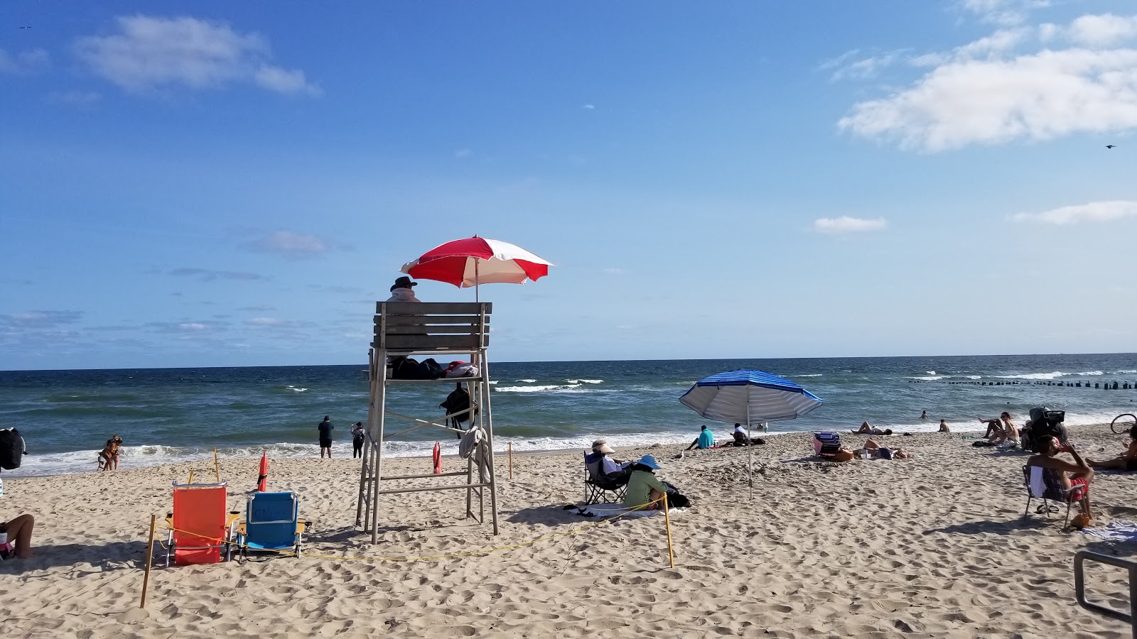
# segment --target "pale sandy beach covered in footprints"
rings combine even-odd
[[[1072,438],[1104,458],[1126,435],[1082,426]],[[17,637],[1129,636],[1078,607],[1072,556],[1137,545],[1063,532],[1062,513],[1023,518],[1026,454],[958,433],[888,439],[918,457],[819,463],[808,433],[771,437],[754,448],[753,499],[746,449],[617,450],[655,455],[694,501],[672,518],[674,569],[662,516],[591,525],[563,509],[581,499],[579,451],[515,455],[512,480],[499,456],[497,537],[463,517],[464,492],[420,492],[387,499],[375,546],[354,526],[357,462],[274,460],[269,490],[301,496],[314,521],[305,553],[318,557],[156,567],[144,609],[150,515],[169,511],[172,481],[211,478],[211,462],[8,479],[0,517],[35,516],[36,555],[0,563],[0,614]],[[243,509],[256,462],[223,459],[221,473]],[[1135,489],[1137,474],[1099,473],[1095,523],[1137,521]],[[1092,599],[1128,608],[1122,571],[1092,569],[1088,582]]]

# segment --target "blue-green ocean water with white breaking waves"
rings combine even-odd
[[[1137,409],[1137,355],[861,357],[491,363],[496,448],[582,449],[597,437],[613,446],[687,442],[708,422],[679,403],[702,377],[757,368],[796,381],[824,400],[770,432],[847,430],[869,421],[898,431],[974,430],[977,416],[1034,406],[1064,409],[1067,425],[1104,423]],[[1119,382],[1119,390],[1093,388]],[[1074,385],[1081,384],[1081,385]],[[1129,389],[1123,389],[1129,384]],[[398,384],[388,409],[442,415],[449,384]],[[929,420],[920,420],[927,410]],[[350,456],[348,431],[367,415],[364,365],[0,372],[0,428],[16,426],[28,456],[18,474],[89,472],[115,433],[122,467],[213,455],[315,456],[316,424],[331,415],[337,456]],[[391,420],[388,433],[410,424]],[[457,451],[445,431],[393,434],[391,455],[425,455],[434,441]]]

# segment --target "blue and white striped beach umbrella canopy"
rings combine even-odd
[[[695,382],[679,401],[707,420],[742,424],[792,420],[821,406],[812,392],[762,371],[711,375]]]

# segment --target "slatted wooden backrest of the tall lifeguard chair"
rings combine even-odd
[[[488,301],[381,301],[371,346],[396,352],[473,352],[490,343],[492,309]]]

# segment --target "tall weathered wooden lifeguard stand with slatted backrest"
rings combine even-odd
[[[375,307],[375,338],[368,350],[368,377],[371,398],[367,404],[367,440],[363,450],[363,468],[359,473],[359,499],[356,505],[356,525],[371,532],[371,541],[379,540],[379,503],[382,495],[421,492],[428,490],[466,491],[466,516],[485,521],[485,489],[489,489],[490,513],[493,518],[493,534],[498,533],[497,488],[493,476],[493,420],[490,410],[489,346],[490,302],[406,302],[381,301]],[[389,358],[398,356],[443,356],[443,362],[456,355],[468,355],[478,366],[475,377],[442,377],[438,380],[395,380],[388,368]],[[481,429],[484,433],[480,455],[471,455],[466,470],[453,473],[383,475],[383,438],[387,434],[387,417],[407,420],[418,426],[437,426],[455,432],[447,425],[451,415],[437,421],[420,420],[387,412],[387,393],[399,384],[451,384],[463,382],[466,392],[478,407],[470,418],[470,429]],[[442,387],[440,387],[442,388]],[[404,431],[405,432],[405,431]],[[465,431],[457,431],[465,432]],[[475,458],[478,460],[475,460]],[[465,476],[465,483],[442,486],[384,488],[384,484],[412,479],[435,479]],[[474,514],[474,498],[478,498],[478,514]]]

